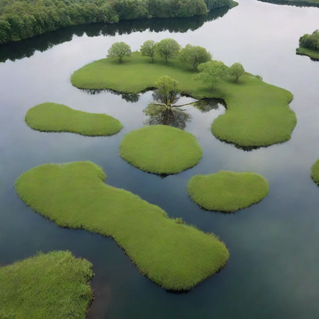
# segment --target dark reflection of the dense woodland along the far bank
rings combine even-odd
[[[189,30],[194,31],[200,28],[206,21],[212,21],[223,17],[228,10],[228,7],[223,7],[208,12],[206,16],[190,18],[127,20],[113,24],[95,23],[90,25],[65,27],[45,33],[41,36],[1,44],[0,62],[5,62],[7,59],[15,61],[16,59],[30,57],[33,56],[35,51],[44,52],[57,44],[71,41],[73,35],[81,37],[86,34],[88,37],[97,37],[100,35],[115,36],[130,34],[145,30],[152,32],[169,31],[179,33],[185,33]]]

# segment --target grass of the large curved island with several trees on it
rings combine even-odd
[[[237,83],[227,78],[211,90],[201,81],[194,81],[196,70],[178,59],[166,64],[156,56],[152,63],[150,58],[133,52],[132,57],[126,57],[122,63],[108,58],[87,64],[72,74],[71,83],[78,88],[137,93],[152,88],[154,82],[166,74],[181,83],[183,93],[197,99],[225,100],[226,113],[211,125],[211,132],[217,138],[242,147],[268,146],[290,139],[297,122],[289,108],[293,95],[248,73]]]

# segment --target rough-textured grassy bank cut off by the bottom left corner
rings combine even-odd
[[[0,268],[1,319],[84,319],[93,299],[92,264],[69,251]]]

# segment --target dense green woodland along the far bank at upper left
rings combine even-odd
[[[200,16],[231,5],[231,0],[0,0],[0,43],[64,26]]]

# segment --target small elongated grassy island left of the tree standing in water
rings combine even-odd
[[[86,136],[109,136],[122,129],[112,116],[76,111],[63,104],[42,103],[26,113],[26,124],[41,132],[71,132]]]

